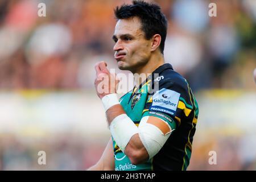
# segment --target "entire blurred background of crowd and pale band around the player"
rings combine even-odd
[[[42,2],[46,17],[38,16]],[[0,0],[0,170],[84,170],[100,159],[110,133],[94,64],[119,72],[113,9],[123,2],[131,3]],[[256,1],[151,2],[169,20],[166,62],[199,102],[188,170],[255,170]]]

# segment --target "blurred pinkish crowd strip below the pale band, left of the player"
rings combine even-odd
[[[12,134],[0,135],[0,171],[85,170],[95,164],[106,143],[105,140],[92,142],[75,133],[49,135],[51,137],[30,136],[30,139]],[[46,154],[45,165],[40,163],[43,155],[39,151]]]

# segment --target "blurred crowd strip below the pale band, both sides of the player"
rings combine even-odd
[[[216,135],[201,141],[196,137],[188,170],[256,170],[256,135]],[[51,136],[51,137],[50,137]],[[108,138],[83,138],[75,133],[49,133],[48,137],[26,139],[0,135],[1,170],[85,170],[102,155]],[[46,152],[46,165],[40,165],[39,151]],[[212,164],[212,154],[216,163]]]

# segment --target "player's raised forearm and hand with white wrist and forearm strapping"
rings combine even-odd
[[[137,154],[137,148],[141,150],[143,144],[139,139],[138,127],[134,122],[127,116],[125,110],[120,105],[117,94],[115,92],[119,80],[116,80],[113,75],[111,75],[106,68],[104,62],[96,64],[96,75],[97,78],[94,81],[94,86],[96,87],[97,95],[101,98],[106,112],[106,117],[108,119],[108,124],[110,127],[110,132],[115,142],[121,148],[121,150],[129,157]],[[102,75],[104,73],[104,75]],[[111,84],[111,78],[114,78],[114,84]],[[103,80],[102,80],[103,79]],[[110,82],[109,82],[110,80]],[[113,79],[112,79],[113,80]],[[102,85],[103,84],[103,85]],[[100,86],[100,87],[99,87]],[[101,92],[101,88],[109,88],[109,92]],[[133,137],[136,135],[135,137]],[[133,138],[133,139],[131,139]],[[138,145],[141,144],[141,145]],[[146,150],[144,150],[146,151]],[[146,154],[147,155],[147,154]],[[129,157],[130,158],[130,157]],[[131,162],[133,161],[130,158]],[[94,166],[97,167],[97,166]],[[94,168],[93,167],[93,168]],[[93,169],[92,168],[92,169]]]

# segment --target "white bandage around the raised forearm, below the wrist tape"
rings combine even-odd
[[[125,147],[133,135],[139,133],[138,127],[127,116],[127,114],[118,115],[110,123],[110,132],[118,147],[125,153]]]

